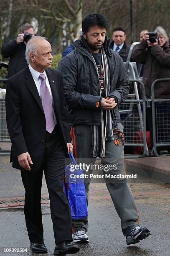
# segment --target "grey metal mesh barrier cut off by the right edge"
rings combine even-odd
[[[157,82],[170,81],[170,78],[156,79],[151,85],[153,151],[156,156],[157,147],[170,147],[170,99],[155,99],[154,86]]]

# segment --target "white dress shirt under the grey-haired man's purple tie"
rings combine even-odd
[[[51,92],[51,87],[50,87],[50,84],[49,84],[49,81],[48,81],[48,77],[47,77],[47,74],[46,74],[46,69],[44,69],[44,72],[43,73],[40,73],[38,71],[36,71],[35,69],[33,69],[30,64],[28,65],[29,69],[30,69],[30,72],[33,76],[33,79],[34,79],[34,82],[36,84],[36,87],[37,87],[37,90],[38,90],[38,93],[40,95],[40,98],[41,98],[41,79],[39,79],[39,76],[40,74],[44,74],[45,77],[46,77],[46,86],[48,87],[48,90],[50,92],[50,96],[51,96],[51,101],[52,101],[52,105],[53,105],[53,108],[54,108],[54,100],[53,100],[53,95],[52,95],[52,92]],[[57,123],[57,120],[56,120],[56,115],[54,113],[54,110],[53,110],[53,115],[54,115],[54,124],[56,125]]]

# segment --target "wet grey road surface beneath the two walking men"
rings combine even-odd
[[[0,158],[0,197],[23,196],[20,172],[11,169],[8,157]],[[152,235],[135,246],[127,246],[122,235],[120,220],[109,197],[105,184],[91,184],[89,202],[89,240],[81,245],[77,256],[166,256],[170,255],[170,199],[166,184],[132,184],[140,212],[140,223],[146,225]],[[101,191],[101,192],[100,192]],[[145,193],[144,193],[145,192]],[[46,184],[43,181],[43,193]],[[145,194],[145,195],[144,195]],[[105,197],[104,197],[104,196]],[[54,238],[49,204],[42,206],[44,240],[48,253],[53,255]],[[27,248],[25,253],[3,253],[3,248]],[[0,210],[0,255],[37,255],[29,250],[23,207]]]

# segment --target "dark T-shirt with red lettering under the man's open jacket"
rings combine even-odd
[[[92,55],[93,55],[94,60],[96,62],[101,96],[104,97],[104,72],[103,72],[103,66],[102,66],[102,63],[101,63],[101,53],[92,52]]]

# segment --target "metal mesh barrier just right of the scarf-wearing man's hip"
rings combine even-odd
[[[143,99],[128,99],[119,106],[121,123],[124,126],[125,146],[142,147],[141,155],[133,155],[133,157],[143,157],[148,155],[146,142],[146,97],[145,86],[138,79],[129,79],[130,82],[140,83],[142,86]],[[128,95],[132,97],[131,95]],[[136,141],[136,135],[139,135],[139,141]],[[128,157],[128,155],[126,155]],[[129,157],[132,157],[130,155]]]

